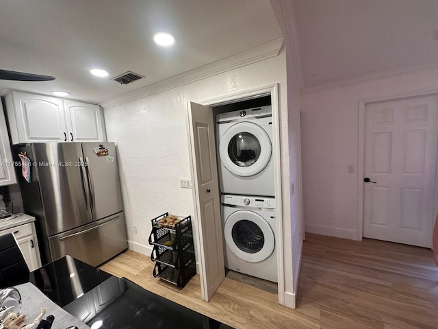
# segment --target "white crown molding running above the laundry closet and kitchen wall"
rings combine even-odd
[[[253,49],[242,51],[217,60],[216,62],[211,62],[196,69],[169,77],[168,79],[156,82],[155,84],[150,84],[149,86],[133,90],[130,93],[121,95],[120,97],[102,101],[100,105],[103,108],[112,108],[142,97],[162,93],[165,90],[183,86],[184,84],[190,84],[191,82],[202,80],[206,77],[211,77],[261,60],[273,58],[279,55],[282,47],[283,38],[279,38]]]

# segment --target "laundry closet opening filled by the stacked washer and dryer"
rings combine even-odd
[[[274,162],[275,159],[272,159],[271,136],[265,131],[266,129],[272,134],[272,117],[268,112],[271,105],[271,96],[265,95],[213,106],[212,113],[216,118],[214,128],[226,276],[231,280],[276,293],[276,250],[274,247],[268,248],[269,243],[275,245],[276,232],[272,231],[275,226],[267,226],[267,232],[263,232],[259,224],[250,219],[252,212],[243,215],[239,221],[231,219],[240,213],[245,214],[246,209],[254,211],[255,205],[250,204],[251,197],[258,197],[259,203],[266,195],[270,195],[274,200],[273,164],[270,162]],[[257,112],[259,115],[255,114],[255,117],[252,117],[252,114]],[[256,119],[257,117],[262,119]],[[259,121],[266,123],[266,126],[263,128],[263,122]],[[259,134],[257,130],[252,131],[260,125]],[[235,208],[232,211],[227,211],[227,203],[231,201],[227,202],[225,198],[233,201]],[[244,206],[240,199],[248,202],[248,206]],[[260,218],[261,223],[266,223],[266,219]],[[255,255],[262,256],[257,261],[248,261]]]

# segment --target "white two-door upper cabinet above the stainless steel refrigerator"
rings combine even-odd
[[[13,144],[106,141],[98,105],[17,91],[5,104]]]

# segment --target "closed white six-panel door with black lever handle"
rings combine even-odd
[[[437,146],[437,96],[365,106],[363,236],[431,247]]]

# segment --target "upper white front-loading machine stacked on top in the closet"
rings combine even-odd
[[[275,196],[271,106],[218,114],[222,193]]]

